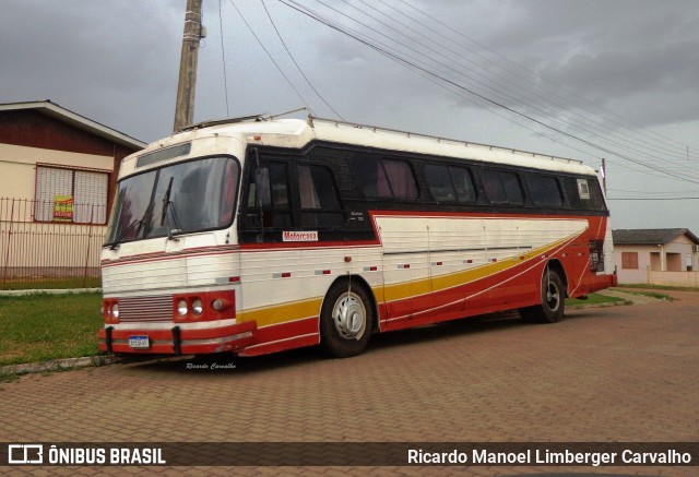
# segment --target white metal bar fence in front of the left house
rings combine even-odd
[[[0,198],[0,289],[99,287],[106,226],[74,223],[72,207],[54,203],[50,206],[60,214],[37,220],[36,211],[47,206],[28,199]],[[104,205],[74,207],[90,207],[91,217],[105,216]]]

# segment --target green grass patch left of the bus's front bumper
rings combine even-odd
[[[98,355],[102,294],[0,297],[0,366]]]

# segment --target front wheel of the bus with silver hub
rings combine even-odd
[[[320,312],[320,344],[330,356],[348,358],[364,351],[374,326],[374,307],[364,287],[346,281],[328,290]]]

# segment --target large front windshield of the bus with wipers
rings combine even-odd
[[[238,163],[210,157],[151,169],[119,181],[105,245],[227,227]]]

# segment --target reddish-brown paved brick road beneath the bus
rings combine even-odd
[[[0,384],[0,442],[699,441],[699,293],[377,336],[366,354],[112,365]],[[198,368],[197,365],[205,365]],[[235,368],[233,367],[235,365]],[[441,473],[695,475],[698,467],[448,467]],[[87,467],[0,473],[91,475]],[[271,467],[104,467],[121,475],[276,475]],[[284,467],[292,475],[435,475]]]

